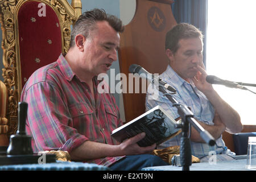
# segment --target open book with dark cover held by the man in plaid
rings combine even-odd
[[[175,121],[167,111],[158,105],[113,130],[111,135],[118,142],[122,142],[144,132],[146,136],[137,142],[139,146],[146,147],[154,143],[159,145],[180,133],[181,129],[176,127],[180,123],[181,119]]]

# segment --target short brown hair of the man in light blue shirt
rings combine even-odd
[[[170,49],[172,53],[176,53],[177,49],[179,48],[179,40],[189,38],[200,38],[203,40],[203,34],[192,24],[179,23],[167,32],[166,49]]]

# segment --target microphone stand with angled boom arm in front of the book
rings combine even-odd
[[[179,104],[171,96],[170,93],[166,91],[166,89],[159,85],[159,91],[164,93],[164,96],[168,98],[172,102],[172,104],[177,108],[178,113],[181,117],[181,124],[178,125],[177,127],[181,128],[181,142],[180,142],[180,163],[181,166],[183,167],[183,171],[189,171],[189,166],[191,166],[191,160],[192,160],[192,155],[191,155],[191,142],[190,142],[190,136],[188,136],[188,130],[191,127],[195,127],[195,129],[199,132],[200,137],[204,139],[206,143],[208,143],[210,146],[214,146],[216,144],[214,138],[212,135],[208,133],[208,131],[204,130],[204,128],[196,121],[195,118],[193,118],[193,113],[191,110],[188,109],[187,106]]]

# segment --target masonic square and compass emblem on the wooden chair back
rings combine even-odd
[[[147,12],[147,20],[150,26],[155,31],[163,31],[166,26],[166,18],[164,17],[163,12],[158,7],[151,7]]]

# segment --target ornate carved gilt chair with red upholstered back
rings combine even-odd
[[[68,51],[71,26],[81,8],[80,0],[71,5],[67,0],[0,0],[8,136],[16,132],[24,84],[36,69]]]

